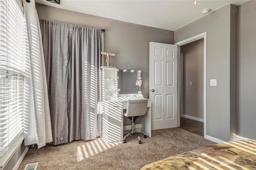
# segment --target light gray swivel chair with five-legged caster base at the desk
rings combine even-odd
[[[147,105],[148,105],[148,99],[128,100],[127,109],[126,109],[126,112],[124,113],[124,116],[128,117],[132,121],[132,129],[128,134],[124,136],[123,143],[126,143],[125,138],[130,134],[135,134],[138,137],[139,144],[142,144],[142,142],[141,142],[140,136],[137,133],[143,133],[144,138],[147,138],[145,132],[134,130],[134,121],[136,121],[136,119],[139,116],[146,115],[147,109],[148,109]]]

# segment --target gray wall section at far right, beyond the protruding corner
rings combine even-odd
[[[238,8],[237,134],[256,139],[256,1]]]

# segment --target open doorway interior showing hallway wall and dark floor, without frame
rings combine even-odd
[[[180,46],[180,128],[204,136],[204,39]]]

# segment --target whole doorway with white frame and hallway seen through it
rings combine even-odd
[[[206,137],[206,32],[178,45],[178,126]]]

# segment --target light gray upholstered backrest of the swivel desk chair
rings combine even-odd
[[[133,116],[146,115],[147,106],[148,106],[148,99],[128,100],[127,110],[124,116],[133,117]]]

